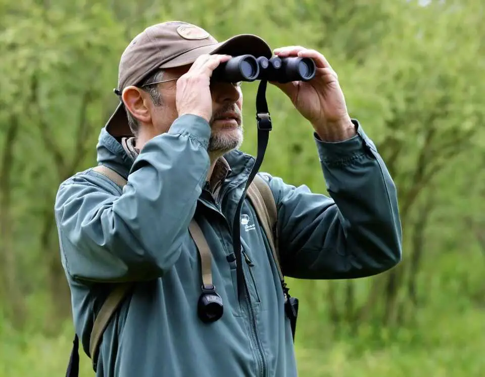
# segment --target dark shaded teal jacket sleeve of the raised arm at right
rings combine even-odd
[[[330,197],[269,176],[278,208],[286,276],[343,279],[375,275],[401,260],[402,230],[394,182],[375,145],[357,135],[315,141]]]

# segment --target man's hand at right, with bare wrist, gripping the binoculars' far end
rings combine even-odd
[[[315,62],[315,77],[310,81],[272,82],[293,102],[295,108],[313,125],[324,141],[336,142],[356,134],[347,112],[344,93],[337,74],[325,57],[302,46],[287,46],[274,50],[280,58],[311,58]]]

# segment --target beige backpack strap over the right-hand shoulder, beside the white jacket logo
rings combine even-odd
[[[278,237],[273,233],[273,229],[276,232],[276,221],[278,212],[276,209],[276,203],[274,201],[273,193],[269,188],[268,183],[263,178],[256,174],[254,180],[248,187],[247,196],[251,203],[253,203],[256,214],[258,215],[261,225],[266,233],[273,258],[276,261],[276,267],[278,268],[278,274],[281,281],[283,281],[283,273],[281,272],[281,266],[279,262],[278,252]]]

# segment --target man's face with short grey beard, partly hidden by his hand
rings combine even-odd
[[[166,69],[163,80],[180,77],[188,68],[184,66]],[[155,130],[157,133],[164,133],[178,117],[175,104],[176,81],[161,83],[158,89],[162,95],[162,106],[153,106],[150,110]],[[208,151],[223,154],[239,148],[243,142],[243,93],[237,83],[213,82],[211,96],[212,132]]]

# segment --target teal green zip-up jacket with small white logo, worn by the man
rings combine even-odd
[[[285,276],[356,278],[401,260],[395,185],[374,144],[354,124],[358,134],[343,142],[324,143],[314,134],[315,158],[331,197],[264,174],[277,204]],[[241,242],[252,307],[237,299],[232,219],[255,160],[240,151],[226,154],[231,171],[220,200],[202,195],[210,132],[202,118],[181,116],[133,161],[103,129],[98,163],[126,177],[124,189],[91,169],[59,187],[55,215],[62,264],[85,352],[95,314],[113,285],[136,282],[106,329],[96,359],[98,376],[297,375],[276,265],[249,200],[241,211],[249,216],[241,224]],[[202,280],[188,232],[193,216],[209,243],[213,281],[224,303],[222,318],[212,324],[197,316]]]

